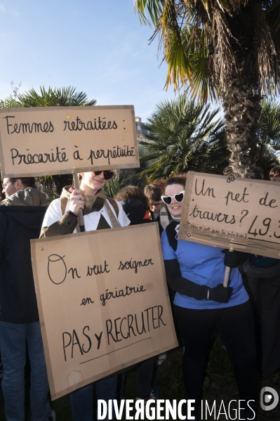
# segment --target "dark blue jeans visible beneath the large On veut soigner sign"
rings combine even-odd
[[[97,399],[104,399],[106,402],[116,399],[116,383],[116,375],[98,380],[95,383]],[[93,383],[72,391],[69,399],[74,421],[93,421]],[[105,420],[108,420],[108,417]]]

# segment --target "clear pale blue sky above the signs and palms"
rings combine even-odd
[[[145,119],[173,88],[152,29],[133,0],[0,0],[0,98],[11,81],[32,87],[76,86],[97,105],[134,105]]]

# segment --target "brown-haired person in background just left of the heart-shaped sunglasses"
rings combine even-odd
[[[159,184],[147,184],[144,188],[144,194],[149,204],[149,213],[152,221],[159,222],[165,229],[171,221],[171,216],[161,200],[162,189]]]

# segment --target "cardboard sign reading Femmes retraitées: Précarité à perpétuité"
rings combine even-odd
[[[0,110],[2,177],[139,167],[133,105]]]

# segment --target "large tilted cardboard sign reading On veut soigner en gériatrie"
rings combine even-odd
[[[52,399],[177,346],[156,223],[32,240]]]

